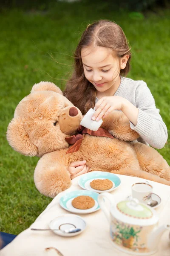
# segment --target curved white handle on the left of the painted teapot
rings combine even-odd
[[[109,209],[106,206],[105,199],[108,199],[108,201],[109,201]],[[108,192],[101,193],[98,196],[98,203],[99,203],[99,206],[101,207],[102,211],[105,213],[105,216],[106,216],[108,222],[110,223],[111,222],[111,213],[110,213],[111,204],[114,203],[113,196],[111,194],[109,194]]]

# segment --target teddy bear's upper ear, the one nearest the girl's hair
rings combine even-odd
[[[37,91],[45,91],[45,90],[51,90],[55,93],[59,93],[63,95],[62,90],[59,89],[59,87],[51,82],[43,82],[41,81],[38,84],[34,84],[32,87],[31,93],[37,92]]]

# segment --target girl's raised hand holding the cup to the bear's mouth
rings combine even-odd
[[[92,120],[99,121],[114,110],[122,110],[125,101],[126,99],[120,96],[108,96],[99,99],[95,105],[96,113],[92,116]]]

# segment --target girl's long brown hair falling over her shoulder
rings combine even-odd
[[[118,58],[129,55],[125,69],[120,75],[126,76],[130,70],[131,52],[127,38],[119,25],[109,20],[99,20],[87,26],[82,33],[74,54],[74,72],[66,84],[64,95],[82,112],[94,108],[96,88],[86,78],[82,65],[81,50],[87,46],[107,47],[113,50]]]

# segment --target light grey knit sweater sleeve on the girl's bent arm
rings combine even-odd
[[[139,109],[137,125],[130,122],[131,129],[154,148],[161,149],[167,141],[167,127],[164,124],[155,100],[144,81],[139,81],[135,92],[136,108]]]

